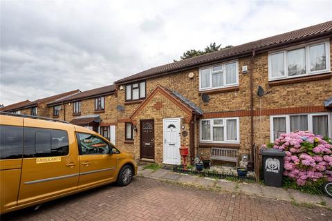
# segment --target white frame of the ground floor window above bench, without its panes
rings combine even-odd
[[[213,120],[222,119],[223,124],[217,124],[218,126],[223,126],[223,141],[214,141],[213,140]],[[237,140],[227,140],[227,120],[236,119],[237,120]],[[210,120],[210,140],[202,140],[202,121]],[[239,144],[240,143],[240,117],[222,117],[222,118],[210,118],[210,119],[201,119],[199,121],[199,142],[201,143],[214,143],[214,144]]]

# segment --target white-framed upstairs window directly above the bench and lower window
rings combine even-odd
[[[199,70],[199,90],[239,85],[239,64],[232,61]]]

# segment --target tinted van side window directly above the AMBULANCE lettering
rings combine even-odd
[[[56,157],[69,153],[68,133],[46,128],[24,128],[24,158]]]

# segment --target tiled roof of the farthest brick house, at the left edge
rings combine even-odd
[[[43,103],[43,102],[51,102],[55,99],[66,97],[68,95],[72,95],[72,94],[75,94],[75,93],[78,93],[78,92],[80,92],[80,90],[77,89],[77,90],[68,91],[66,93],[61,93],[61,94],[58,94],[58,95],[45,97],[45,98],[42,98],[42,99],[36,99],[33,102],[30,102],[29,100],[26,100],[24,102],[19,102],[17,104],[12,104],[12,105],[5,106],[5,107],[1,108],[0,110],[1,111],[20,110],[20,109],[24,109],[24,108],[27,108],[27,107],[30,107],[30,106],[37,106],[38,104]]]

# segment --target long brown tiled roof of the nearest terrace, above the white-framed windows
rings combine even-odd
[[[291,32],[286,32],[281,35],[275,35],[273,37],[267,37],[265,39],[260,39],[258,41],[252,41],[246,44],[241,44],[239,46],[234,46],[232,48],[225,48],[223,50],[218,50],[216,52],[211,52],[205,55],[192,57],[190,59],[175,61],[170,64],[165,64],[162,66],[144,70],[140,73],[137,73],[136,75],[124,77],[116,81],[115,84],[121,84],[127,81],[133,81],[138,79],[145,79],[147,77],[155,77],[157,75],[162,75],[165,73],[172,73],[173,71],[176,70],[181,70],[183,68],[190,68],[192,66],[197,66],[201,64],[207,64],[221,59],[239,57],[241,55],[247,55],[247,54],[249,55],[249,53],[251,53],[252,50],[258,52],[259,50],[275,48],[277,46],[291,44],[295,41],[321,37],[323,35],[324,36],[332,35],[332,21],[327,21],[324,23],[317,24],[315,26],[310,26],[299,30],[293,30]]]

